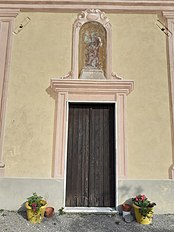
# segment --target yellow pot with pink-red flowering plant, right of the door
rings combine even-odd
[[[140,224],[150,224],[153,218],[153,207],[156,203],[151,202],[145,195],[139,194],[132,198],[136,221]]]

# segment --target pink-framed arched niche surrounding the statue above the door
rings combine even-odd
[[[97,9],[87,9],[78,15],[73,25],[73,55],[71,78],[79,79],[82,69],[86,66],[87,35],[100,39],[99,63],[106,79],[111,75],[111,25],[104,12]],[[99,42],[99,41],[98,41]]]

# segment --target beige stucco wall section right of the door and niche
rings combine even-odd
[[[135,81],[128,96],[128,178],[165,179],[172,163],[166,35],[157,15],[117,15],[113,69]]]

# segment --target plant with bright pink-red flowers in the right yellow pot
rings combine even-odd
[[[135,198],[132,198],[134,205],[140,207],[139,212],[143,217],[148,217],[150,213],[152,213],[152,208],[156,205],[156,203],[151,202],[145,195],[139,194]]]

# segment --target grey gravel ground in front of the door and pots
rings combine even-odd
[[[155,215],[153,224],[126,223],[119,215],[55,213],[41,224],[31,224],[25,212],[0,211],[0,232],[174,232],[174,215]]]

